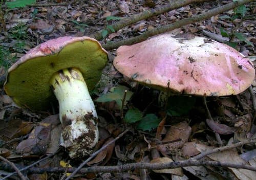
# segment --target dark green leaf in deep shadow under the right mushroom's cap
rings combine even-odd
[[[167,115],[169,116],[181,116],[189,112],[189,110],[195,105],[196,99],[194,97],[186,96],[171,96],[167,103]]]

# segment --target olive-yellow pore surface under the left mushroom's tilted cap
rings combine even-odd
[[[96,41],[76,41],[56,54],[35,57],[19,64],[8,73],[5,91],[20,106],[33,110],[49,109],[54,98],[50,79],[55,72],[78,68],[91,91],[107,61],[107,53]]]

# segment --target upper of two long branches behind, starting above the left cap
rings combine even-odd
[[[159,15],[159,14],[162,14],[164,12],[168,12],[168,11],[171,11],[171,10],[174,10],[174,9],[178,9],[180,7],[183,7],[183,6],[192,4],[192,3],[204,3],[204,2],[208,2],[208,1],[213,1],[213,0],[180,0],[180,1],[175,1],[175,2],[172,2],[168,5],[165,5],[165,6],[156,8],[156,9],[146,10],[146,11],[143,11],[139,14],[135,14],[135,15],[132,15],[132,16],[129,16],[129,17],[125,17],[125,18],[117,21],[114,25],[111,25],[111,26],[115,31],[118,31],[118,30],[122,29],[123,27],[132,25],[135,22],[138,22],[140,20],[143,20],[143,19],[146,19],[146,18],[149,18],[149,17],[153,17],[153,16],[156,16],[156,15]],[[109,28],[106,28],[106,29],[97,31],[96,33],[92,34],[91,37],[93,37],[97,40],[102,39],[102,31],[104,31],[104,30],[108,31],[108,34],[113,33]]]

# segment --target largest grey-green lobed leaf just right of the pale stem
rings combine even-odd
[[[133,95],[131,91],[128,91],[128,87],[123,85],[117,85],[116,87],[111,88],[111,92],[102,95],[98,99],[96,99],[96,102],[110,102],[110,101],[116,101],[117,106],[119,109],[122,107],[122,100],[124,96],[124,91],[126,92],[125,101],[129,101]]]

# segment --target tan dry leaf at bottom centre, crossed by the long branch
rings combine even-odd
[[[150,163],[172,163],[173,160],[167,157],[163,157],[163,158],[156,158],[154,160],[152,160]],[[181,168],[175,168],[175,169],[159,169],[159,170],[153,170],[156,173],[168,173],[168,174],[175,174],[175,175],[179,175],[182,176],[183,175],[183,171]]]

